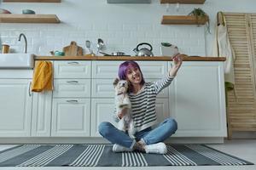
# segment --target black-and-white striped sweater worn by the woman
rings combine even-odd
[[[172,80],[173,77],[165,77],[156,82],[146,82],[137,94],[129,94],[132,118],[137,132],[151,127],[157,122],[155,111],[156,95],[169,86]],[[115,113],[115,121],[119,121],[117,113]]]

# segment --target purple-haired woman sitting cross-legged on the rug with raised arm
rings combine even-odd
[[[166,154],[166,144],[163,141],[176,132],[177,122],[172,118],[167,118],[157,127],[152,128],[157,123],[155,99],[162,89],[171,84],[182,62],[180,54],[174,56],[172,69],[168,71],[166,77],[156,82],[145,82],[140,66],[133,60],[119,65],[119,79],[127,80],[130,84],[128,94],[137,133],[135,133],[136,139],[131,139],[127,133],[120,131],[110,122],[102,122],[99,125],[99,133],[113,143],[114,152],[138,150],[146,153]],[[115,113],[115,121],[119,122],[125,113],[125,109]]]

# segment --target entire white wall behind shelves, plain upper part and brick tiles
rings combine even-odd
[[[188,14],[195,7],[204,8],[206,11],[208,9],[207,13],[212,16],[213,24],[214,16],[221,6],[220,2],[222,0],[211,0],[211,3],[204,5],[182,5],[180,11]],[[173,5],[170,6],[173,8]],[[163,14],[174,12],[167,13],[166,5],[161,5],[159,0],[139,5],[107,4],[107,0],[2,3],[1,8],[7,8],[14,14],[19,14],[23,8],[31,8],[37,14],[57,14],[61,20],[61,24],[1,24],[1,42],[8,43],[15,53],[23,51],[24,42],[18,42],[18,37],[23,32],[27,37],[28,52],[38,55],[49,55],[49,51],[62,50],[71,41],[78,42],[85,53],[89,53],[85,48],[85,41],[90,40],[96,51],[96,40],[99,37],[106,42],[106,53],[123,51],[134,55],[132,49],[138,43],[149,42],[154,48],[154,55],[160,55],[160,42],[171,42],[183,54],[211,55],[207,48],[212,46],[213,35],[207,34],[204,26],[160,25]],[[253,7],[247,5],[246,8]]]

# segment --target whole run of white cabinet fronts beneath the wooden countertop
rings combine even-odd
[[[32,71],[1,70],[0,137],[100,137],[101,122],[116,124],[113,80],[122,62],[55,60],[54,91],[32,94]],[[165,77],[171,67],[166,61],[137,62],[146,82]],[[158,122],[170,116],[177,120],[173,137],[226,136],[223,65],[183,62],[157,96]]]

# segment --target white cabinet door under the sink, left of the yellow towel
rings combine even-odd
[[[30,136],[30,84],[28,79],[0,79],[0,137]]]

